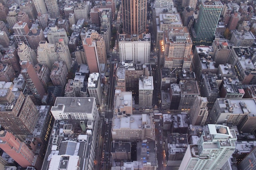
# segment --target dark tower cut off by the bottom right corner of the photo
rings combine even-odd
[[[239,170],[252,170],[256,166],[256,148],[254,147],[251,152],[238,164]]]

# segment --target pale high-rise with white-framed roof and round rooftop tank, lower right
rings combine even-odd
[[[198,144],[189,145],[179,170],[219,170],[236,149],[236,132],[228,126],[208,124]]]

